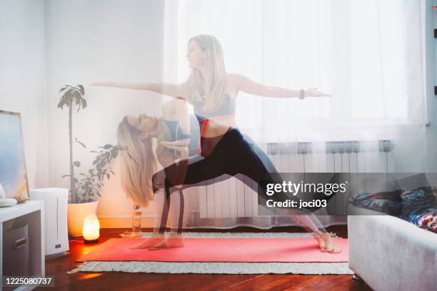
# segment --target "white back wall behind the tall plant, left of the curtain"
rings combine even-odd
[[[59,89],[64,84],[86,86],[88,107],[74,113],[73,123],[74,137],[87,146],[74,148],[74,160],[82,164],[79,172],[86,171],[95,155],[89,150],[116,143],[116,127],[123,116],[161,112],[161,98],[154,93],[87,85],[106,79],[161,80],[164,1],[45,1],[44,13],[46,91],[52,121],[49,181],[51,186],[69,188],[69,180],[61,179],[69,173],[69,131],[68,110],[56,108]],[[133,203],[121,191],[118,177],[104,184],[99,217],[126,218],[124,226],[129,227]]]

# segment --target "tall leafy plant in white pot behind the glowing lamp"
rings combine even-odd
[[[63,93],[59,99],[58,108],[63,109],[64,106],[69,108],[69,146],[70,146],[70,173],[69,175],[63,175],[62,178],[70,178],[70,195],[68,205],[68,228],[69,235],[79,237],[82,235],[82,228],[84,219],[89,214],[96,214],[97,205],[99,200],[97,196],[100,196],[100,189],[103,185],[104,178],[110,178],[112,173],[111,160],[119,155],[121,150],[125,148],[120,145],[106,145],[99,147],[99,152],[91,150],[91,153],[98,153],[93,162],[93,168],[86,173],[81,173],[81,180],[76,178],[74,168],[79,168],[81,163],[79,161],[73,161],[73,145],[79,143],[82,147],[86,148],[85,144],[79,141],[77,138],[73,142],[73,107],[76,105],[77,112],[81,108],[86,108],[86,99],[84,98],[85,90],[84,86],[78,84],[76,86],[65,85],[61,88],[59,93]]]

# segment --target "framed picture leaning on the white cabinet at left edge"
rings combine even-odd
[[[29,200],[20,113],[0,111],[0,192],[19,203]]]

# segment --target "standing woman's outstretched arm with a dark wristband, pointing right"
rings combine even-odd
[[[233,83],[233,86],[235,86],[234,88],[236,88],[237,91],[243,91],[253,95],[271,98],[293,98],[301,96],[301,90],[267,86],[236,73],[229,74],[228,81]],[[317,91],[316,88],[308,88],[305,90],[304,96],[322,97],[331,95]]]

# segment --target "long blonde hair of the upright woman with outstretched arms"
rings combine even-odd
[[[203,111],[205,112],[214,111],[220,108],[224,101],[226,68],[223,60],[223,49],[220,42],[209,34],[194,36],[189,40],[189,44],[191,41],[196,41],[202,51],[208,52],[207,67],[209,71],[207,76],[202,76],[198,68],[191,70],[187,81],[186,99],[189,103],[203,102]]]

